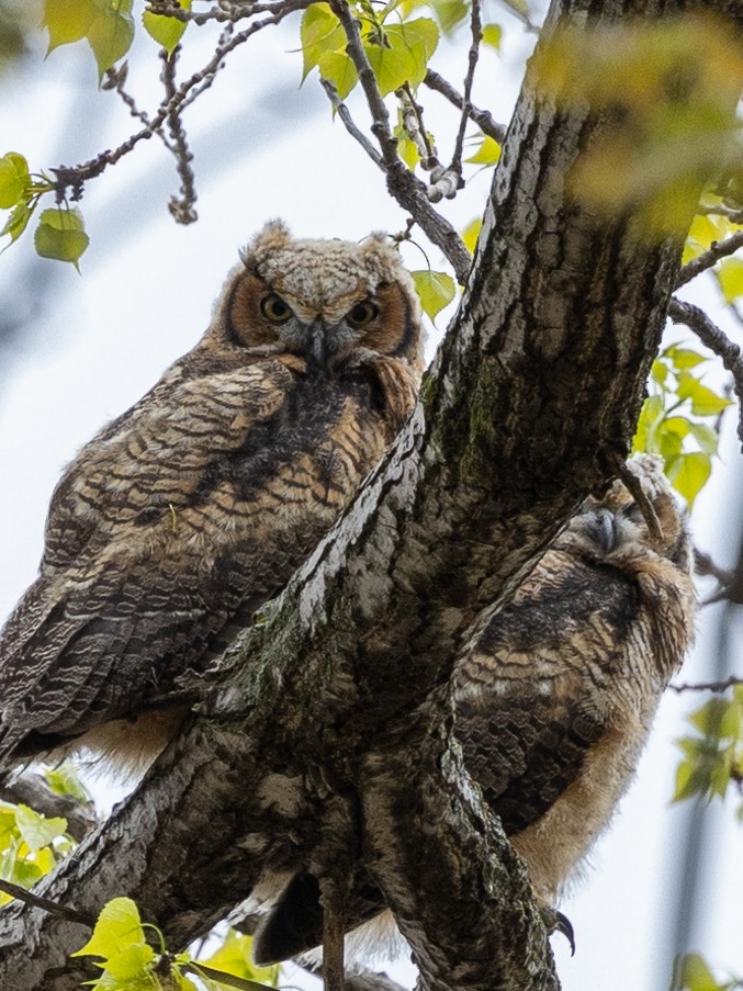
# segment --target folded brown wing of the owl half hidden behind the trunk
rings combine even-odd
[[[553,804],[609,730],[605,687],[639,608],[630,575],[551,550],[460,665],[455,733],[509,835]]]

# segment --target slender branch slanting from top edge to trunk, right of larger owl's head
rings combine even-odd
[[[443,251],[454,269],[457,279],[463,284],[472,264],[470,252],[449,221],[434,210],[424,183],[410,172],[397,155],[397,142],[390,127],[390,114],[376,86],[374,72],[363,49],[359,25],[350,7],[346,0],[330,0],[330,8],[346,32],[347,52],[356,66],[372,115],[371,131],[380,145],[381,164],[387,173],[390,194],[403,210],[413,215],[426,236]]]

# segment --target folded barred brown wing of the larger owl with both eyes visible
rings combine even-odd
[[[0,765],[168,691],[273,590],[275,561],[247,540],[221,547],[237,526],[230,459],[260,448],[291,375],[277,361],[170,374],[57,487],[41,575],[0,639]]]

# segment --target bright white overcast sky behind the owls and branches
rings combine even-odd
[[[533,40],[499,9],[491,16],[507,30],[502,55],[482,56],[475,102],[507,122]],[[0,317],[31,315],[10,345],[0,344],[0,464],[5,466],[0,617],[35,576],[46,507],[65,464],[102,423],[139,398],[193,346],[237,249],[264,221],[282,216],[297,235],[350,239],[404,226],[405,215],[389,199],[381,172],[340,122],[331,121],[316,75],[299,88],[301,56],[288,54],[299,47],[297,22],[270,31],[232,56],[187,116],[198,224],[179,227],[171,221],[167,201],[179,180],[168,153],[153,138],[89,184],[81,206],[91,246],[81,260],[82,277],[70,266],[37,259],[29,235],[0,258]],[[206,60],[210,38],[202,41],[194,29],[190,35],[187,47],[200,53],[196,68]],[[0,78],[0,154],[23,153],[32,170],[71,165],[115,147],[136,129],[114,93],[95,91],[85,45],[58,49],[42,63],[42,36],[38,43],[37,56]],[[465,44],[455,49],[442,43],[434,60],[460,89]],[[159,100],[158,72],[156,46],[143,36],[131,58],[127,89],[144,109]],[[436,113],[442,101],[421,93],[428,126],[444,145],[441,136],[452,133],[455,117],[446,109]],[[360,110],[357,122],[365,128]],[[441,159],[450,151],[440,147]],[[464,195],[444,204],[460,228],[481,212],[489,180],[489,172],[480,174]],[[426,245],[426,250],[434,268],[444,267],[436,249]],[[425,267],[415,248],[406,248],[406,259],[413,268]],[[684,296],[695,297],[691,291]],[[711,288],[702,302],[718,306],[716,318],[740,340],[740,328],[720,313]],[[431,351],[434,345],[435,337]],[[740,539],[734,416],[728,416],[713,485],[698,499],[693,519],[698,544],[724,566],[733,565]],[[700,617],[698,649],[685,679],[712,671],[713,634],[707,631],[716,609]],[[553,941],[566,991],[667,987],[674,900],[685,869],[679,836],[689,811],[668,807],[673,739],[684,731],[683,713],[699,701],[673,694],[665,699],[638,781],[593,857],[596,868],[563,904],[577,939],[572,959],[565,942]],[[693,944],[711,962],[743,973],[743,834],[732,806],[718,803],[707,813],[717,857]]]

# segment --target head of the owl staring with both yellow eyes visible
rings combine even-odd
[[[360,244],[302,240],[272,221],[240,257],[210,330],[221,344],[326,368],[373,352],[423,371],[418,297],[383,235]]]

